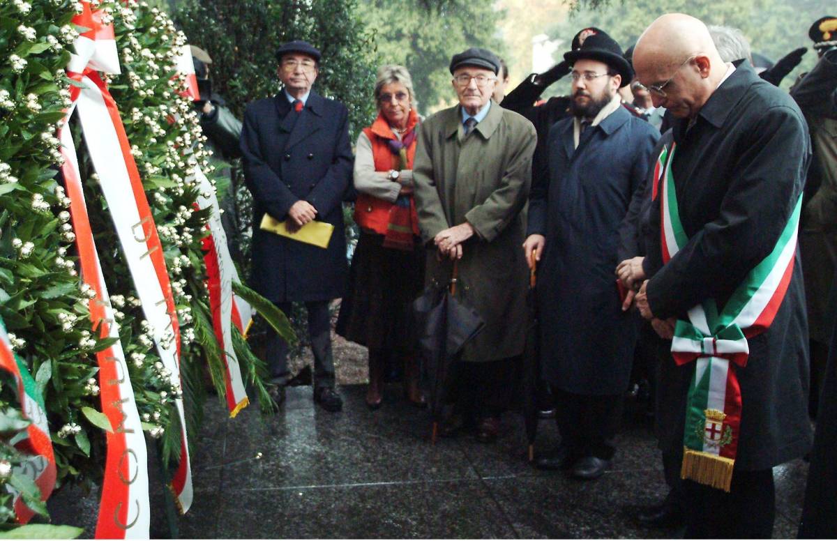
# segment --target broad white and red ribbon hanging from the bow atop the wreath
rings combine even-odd
[[[86,18],[86,24],[83,23],[82,18],[90,9],[90,3],[83,2],[83,5],[85,13],[74,22],[85,26],[92,24],[94,29],[90,32],[95,33],[95,37],[104,35],[105,30],[95,28],[94,17]],[[116,102],[90,64],[92,59],[109,57],[104,49],[110,48],[110,43],[93,43],[91,47],[85,39],[89,39],[87,33],[78,40],[76,52],[79,54],[73,55],[67,69],[69,78],[81,83],[84,88],[74,87],[71,95],[79,112],[90,159],[99,175],[123,255],[151,329],[157,355],[167,370],[179,375],[180,332],[162,244]],[[113,46],[116,47],[116,44]],[[89,56],[85,58],[85,55]],[[113,68],[118,70],[118,65],[110,66],[110,69]],[[182,399],[177,397],[175,404],[182,438],[181,459],[172,479],[172,490],[182,513],[186,513],[193,498],[192,473]]]

